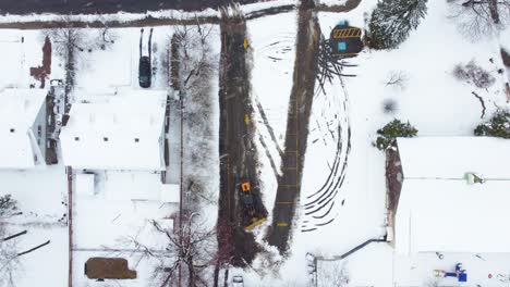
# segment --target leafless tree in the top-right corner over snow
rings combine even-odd
[[[449,0],[451,17],[472,40],[491,35],[510,22],[510,0]]]

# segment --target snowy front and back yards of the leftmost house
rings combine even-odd
[[[1,30],[0,87],[29,88],[39,86],[31,76],[31,67],[42,65],[44,37],[38,30]],[[61,73],[56,62],[53,73]],[[0,196],[11,195],[21,215],[4,220],[8,235],[26,230],[15,240],[16,252],[26,251],[49,240],[42,248],[20,257],[13,273],[16,286],[68,283],[66,175],[61,165],[32,171],[0,171]],[[50,262],[50,264],[48,264]]]

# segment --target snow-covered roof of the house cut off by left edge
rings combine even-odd
[[[42,89],[0,92],[0,169],[32,169],[44,164],[33,126],[47,93]]]

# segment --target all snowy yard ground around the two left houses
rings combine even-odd
[[[94,37],[99,30],[84,30],[86,37]],[[147,54],[149,30],[145,30],[143,48]],[[153,32],[153,88],[168,87],[168,49],[170,27],[155,28]],[[45,32],[1,30],[0,49],[4,65],[0,71],[2,87],[38,86],[29,75],[29,67],[41,65]],[[138,45],[139,29],[116,29],[109,34],[114,43],[107,50],[77,52],[75,95],[80,100],[94,100],[89,95],[109,95],[124,90],[139,90]],[[21,40],[23,37],[23,41]],[[88,43],[87,43],[88,45]],[[63,59],[56,51],[53,42],[52,73],[49,78],[63,78]],[[47,82],[48,83],[48,82]],[[88,97],[88,98],[87,98]],[[90,98],[92,97],[92,98]],[[171,123],[178,124],[178,123]],[[174,159],[172,159],[174,160]],[[175,169],[173,169],[175,170]],[[172,171],[173,171],[172,170]],[[80,173],[80,171],[77,171]],[[120,249],[116,255],[132,262],[139,258],[130,253],[135,238],[150,248],[162,249],[165,238],[154,233],[149,224],[155,220],[161,225],[171,226],[169,219],[178,204],[162,203],[161,176],[159,173],[97,172],[94,195],[75,195],[73,204],[74,244],[73,271],[76,286],[86,286],[83,263],[88,255],[105,255],[104,249]],[[0,195],[11,194],[17,200],[23,215],[9,219],[8,234],[27,230],[19,239],[16,251],[25,251],[50,240],[39,250],[23,255],[16,273],[16,286],[66,286],[69,263],[69,235],[66,226],[68,176],[62,163],[34,171],[0,171]],[[127,252],[130,251],[130,252]],[[108,251],[111,253],[111,251]],[[136,264],[141,275],[130,286],[147,286],[151,275],[150,263]],[[82,276],[78,276],[82,275]]]

